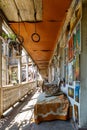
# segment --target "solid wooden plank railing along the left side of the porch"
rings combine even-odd
[[[20,101],[22,97],[24,97],[26,94],[30,93],[30,91],[34,90],[36,88],[36,86],[37,86],[36,82],[30,82],[30,83],[0,88],[0,92],[2,95],[2,96],[0,96],[0,98],[1,98],[0,100],[2,100],[1,101],[2,104],[0,104],[0,106],[1,106],[0,116],[8,108],[10,108],[16,102]],[[3,109],[3,110],[1,110],[1,109]]]

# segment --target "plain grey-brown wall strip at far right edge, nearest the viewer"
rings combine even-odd
[[[80,63],[80,126],[87,125],[87,2],[83,4],[81,20],[81,63]]]

